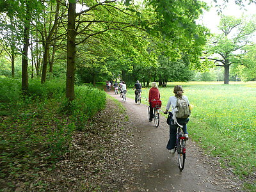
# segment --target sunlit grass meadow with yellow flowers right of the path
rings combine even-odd
[[[222,82],[168,83],[159,88],[164,111],[173,86],[181,84],[193,108],[188,132],[205,149],[205,153],[220,157],[241,177],[256,174],[256,82],[223,84]],[[143,88],[143,102],[148,97]],[[134,98],[134,91],[127,96]],[[255,184],[246,188],[255,190]]]

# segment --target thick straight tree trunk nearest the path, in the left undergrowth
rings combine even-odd
[[[68,6],[68,29],[67,29],[67,81],[66,97],[69,101],[75,99],[75,57],[76,57],[76,3]]]

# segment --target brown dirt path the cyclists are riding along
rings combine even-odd
[[[108,94],[122,102],[119,95]],[[243,191],[237,177],[223,170],[218,159],[204,155],[191,140],[187,142],[185,168],[180,172],[177,154],[169,154],[166,149],[169,136],[166,118],[161,116],[160,125],[156,128],[154,122],[147,120],[147,105],[138,105],[129,98],[122,104],[134,129],[137,151],[134,158],[141,164],[138,172],[134,173],[136,182],[130,187],[132,191]]]

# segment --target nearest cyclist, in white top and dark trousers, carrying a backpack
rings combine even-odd
[[[182,130],[184,132],[184,136],[188,139],[188,131],[187,131],[187,124],[189,122],[189,118],[176,118],[175,113],[177,111],[177,97],[180,97],[184,100],[186,100],[186,102],[188,102],[189,104],[189,100],[188,97],[184,96],[183,93],[183,88],[180,85],[177,85],[174,87],[173,89],[173,93],[175,94],[175,96],[172,96],[169,98],[168,103],[166,105],[166,109],[164,111],[164,114],[166,114],[168,112],[168,110],[170,109],[170,106],[172,106],[172,119],[170,122],[170,138],[169,141],[167,143],[166,148],[168,150],[170,150],[171,154],[175,153],[174,147],[175,147],[175,142],[176,142],[176,132],[177,132],[177,127],[179,124],[182,124]]]

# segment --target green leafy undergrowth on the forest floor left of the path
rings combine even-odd
[[[0,180],[1,186],[10,181],[8,188],[17,177],[35,180],[34,170],[51,170],[67,152],[72,133],[84,129],[88,118],[106,104],[106,93],[79,86],[68,113],[60,113],[65,105],[63,80],[40,84],[35,79],[29,85],[29,95],[24,97],[19,79],[0,78]]]

